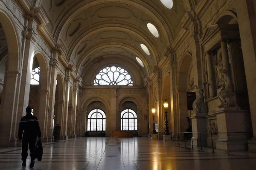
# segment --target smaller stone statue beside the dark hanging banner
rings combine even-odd
[[[204,85],[206,85],[206,84],[207,83],[204,82]],[[204,103],[204,85],[202,88],[198,88],[197,85],[194,86],[196,99],[193,102],[192,106],[193,106],[193,110],[195,111],[195,113],[200,113],[201,106]]]

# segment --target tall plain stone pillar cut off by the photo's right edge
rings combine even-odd
[[[239,33],[244,59],[244,69],[250,103],[250,117],[253,127],[253,138],[248,141],[249,150],[256,152],[256,17],[255,1],[243,0],[236,2]]]

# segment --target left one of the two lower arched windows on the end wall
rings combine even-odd
[[[87,131],[105,131],[106,115],[100,109],[90,111],[87,118]]]

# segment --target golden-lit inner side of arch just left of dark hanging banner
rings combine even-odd
[[[192,55],[185,54],[181,59],[181,64],[178,70],[178,80],[177,80],[177,101],[178,101],[178,115],[177,124],[178,132],[185,132],[188,127],[187,117],[188,111],[186,107],[186,91],[189,86],[189,68],[192,65]]]

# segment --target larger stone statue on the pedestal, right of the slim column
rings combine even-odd
[[[221,101],[220,108],[239,108],[236,103],[236,93],[233,91],[233,85],[230,76],[227,74],[227,70],[220,70],[221,76],[223,77],[224,84],[219,86],[218,98]]]

